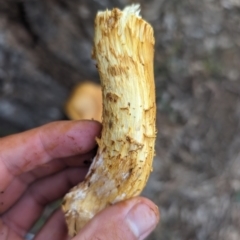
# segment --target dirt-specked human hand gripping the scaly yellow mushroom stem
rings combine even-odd
[[[45,206],[84,179],[100,131],[94,121],[64,121],[0,139],[0,240],[24,239]],[[137,197],[100,212],[73,239],[144,239],[158,219]],[[34,239],[69,239],[61,209]]]

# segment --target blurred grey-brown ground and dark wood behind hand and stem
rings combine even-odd
[[[130,0],[0,0],[0,136],[67,119],[98,10]],[[155,30],[156,157],[149,240],[240,239],[240,0],[142,0]],[[1,146],[0,146],[1,148]]]

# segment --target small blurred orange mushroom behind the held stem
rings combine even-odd
[[[77,84],[65,104],[65,113],[72,120],[94,119],[102,122],[101,86],[90,81]]]

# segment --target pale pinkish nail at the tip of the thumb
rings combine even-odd
[[[130,210],[126,221],[138,239],[145,238],[156,227],[158,223],[157,212],[157,207],[151,208],[144,203],[138,203]]]

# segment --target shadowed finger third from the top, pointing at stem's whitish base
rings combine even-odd
[[[83,168],[66,169],[39,180],[30,186],[16,205],[2,215],[3,220],[19,235],[24,236],[41,216],[45,206],[61,198],[71,187],[82,181],[85,174]]]

